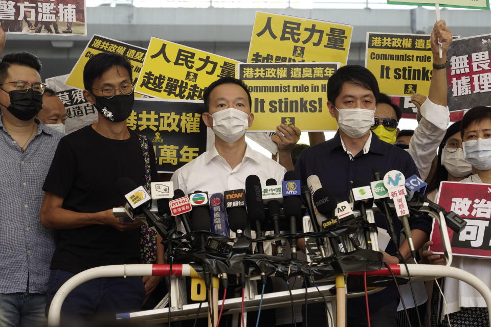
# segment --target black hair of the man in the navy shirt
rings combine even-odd
[[[327,81],[327,100],[331,103],[336,102],[341,93],[344,83],[353,83],[367,90],[371,90],[378,100],[378,83],[375,76],[365,67],[360,65],[346,65],[338,69]]]

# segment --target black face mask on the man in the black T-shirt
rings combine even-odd
[[[104,97],[96,98],[96,109],[102,116],[111,122],[123,122],[128,119],[133,109],[133,103],[135,102],[135,96],[130,94],[129,96],[119,95],[113,98],[107,99]]]

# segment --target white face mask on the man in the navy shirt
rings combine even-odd
[[[375,124],[375,110],[370,109],[341,109],[338,110],[338,126],[349,137],[359,138],[365,135]]]

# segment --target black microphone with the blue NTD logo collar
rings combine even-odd
[[[290,221],[290,233],[297,233],[297,219],[302,217],[302,199],[300,198],[300,176],[296,171],[287,171],[283,180],[283,211]],[[292,259],[297,259],[297,239],[289,240]]]

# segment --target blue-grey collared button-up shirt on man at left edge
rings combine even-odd
[[[45,293],[53,231],[41,226],[44,178],[61,133],[39,124],[23,152],[0,115],[0,293]],[[29,285],[28,285],[29,283]]]

